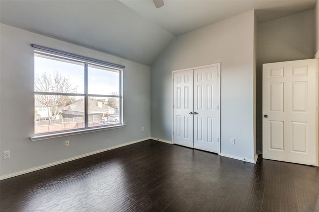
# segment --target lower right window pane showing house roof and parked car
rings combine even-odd
[[[121,123],[120,98],[89,97],[89,127]]]

